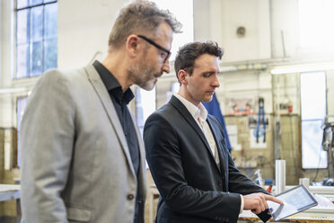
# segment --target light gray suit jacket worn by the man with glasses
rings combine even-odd
[[[41,76],[22,119],[22,222],[133,223],[137,186],[144,222],[145,149],[136,133],[138,179],[95,68]]]

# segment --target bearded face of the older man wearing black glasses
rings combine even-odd
[[[170,50],[172,41],[171,26],[163,22],[154,34],[145,36],[145,38],[154,41],[156,45],[163,49]],[[135,77],[136,85],[145,90],[152,90],[157,78],[162,76],[163,72],[170,72],[168,53],[147,42],[147,40],[140,39],[145,44],[148,44],[148,47],[143,51],[143,56],[139,59],[132,76]]]

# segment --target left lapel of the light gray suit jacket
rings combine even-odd
[[[108,91],[105,85],[103,85],[101,77],[99,76],[99,73],[96,71],[96,69],[92,65],[88,65],[84,67],[84,69],[86,70],[88,80],[91,82],[92,87],[94,88],[96,94],[98,94],[101,100],[101,103],[103,105],[103,108],[105,112],[107,112],[108,114],[110,123],[119,138],[120,145],[123,148],[123,152],[125,156],[127,157],[127,165],[129,165],[129,168],[131,169],[132,174],[136,176],[134,167],[132,165],[130,152],[127,147],[127,139],[124,136],[124,131],[119,122],[119,119],[115,118],[115,117],[118,117],[118,114],[115,110],[113,103],[110,100],[110,95],[108,94]]]

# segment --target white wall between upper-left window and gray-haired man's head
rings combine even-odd
[[[59,0],[58,67],[82,67],[103,58],[119,9],[128,0]]]

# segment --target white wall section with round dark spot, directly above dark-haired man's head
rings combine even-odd
[[[271,57],[268,0],[195,0],[195,40],[215,40],[223,61]],[[239,26],[245,37],[237,37]]]

